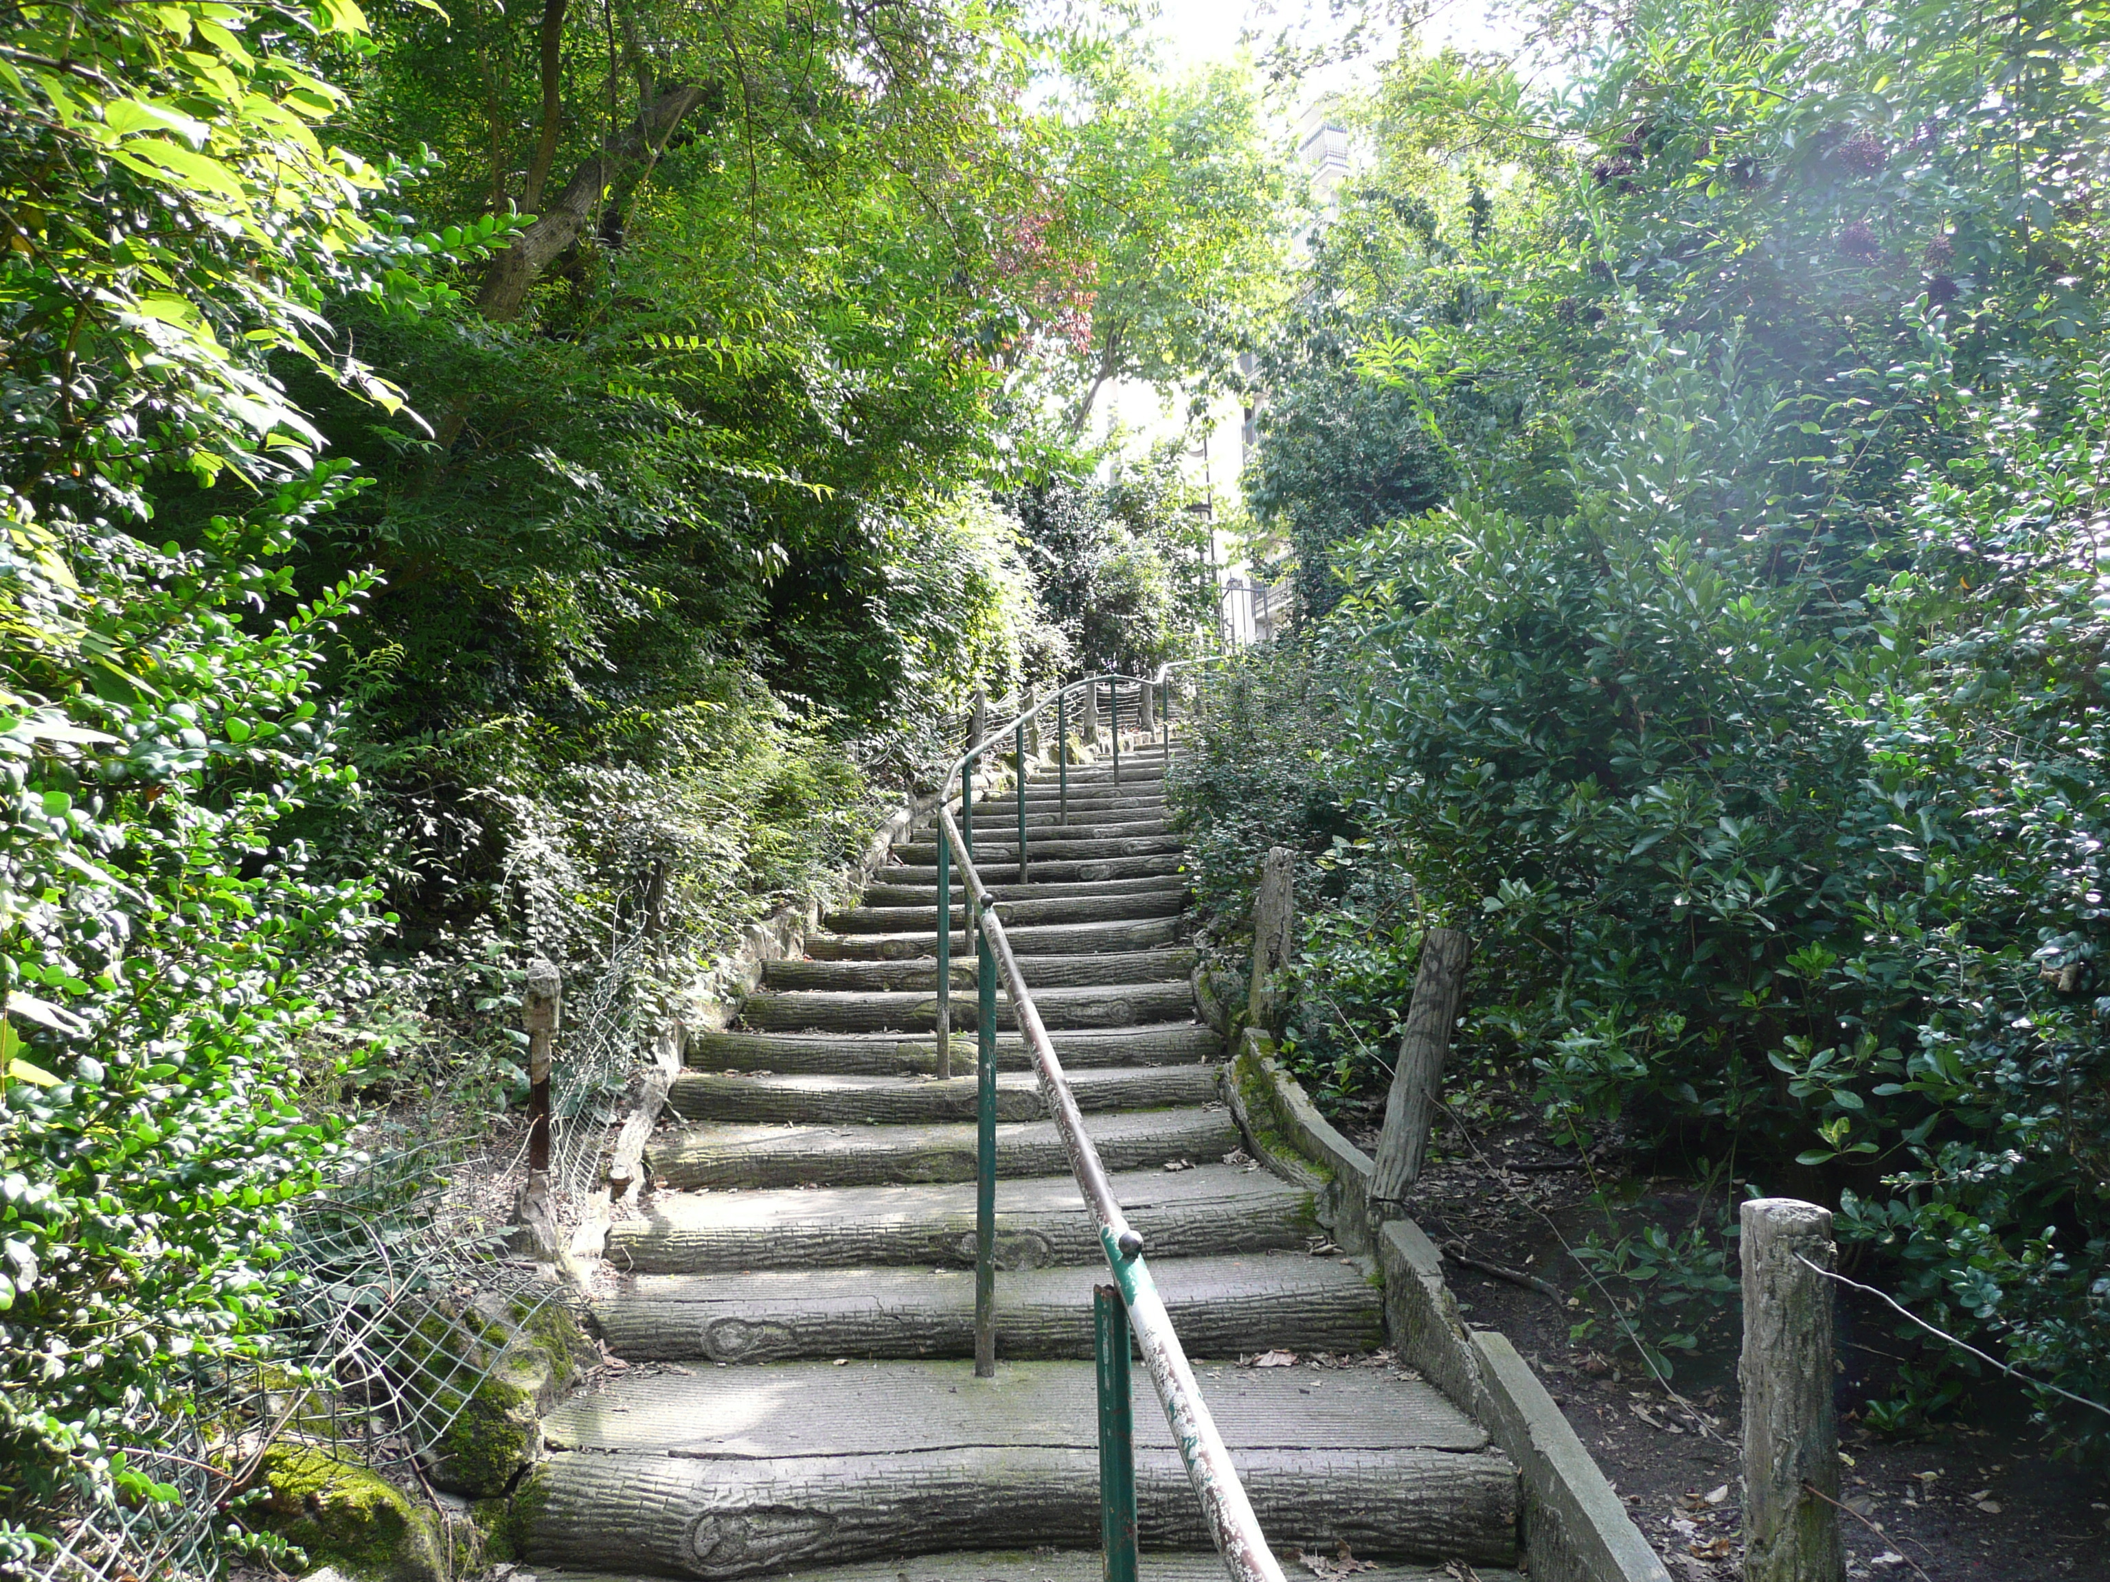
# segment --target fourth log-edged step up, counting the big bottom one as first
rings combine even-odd
[[[1085,1131],[1110,1171],[1220,1160],[1241,1145],[1239,1126],[1222,1107],[1093,1114]],[[654,1179],[669,1188],[973,1181],[975,1124],[701,1124],[654,1137],[648,1160]],[[1070,1156],[1053,1120],[1006,1120],[996,1126],[998,1175],[1061,1175],[1068,1169]]]

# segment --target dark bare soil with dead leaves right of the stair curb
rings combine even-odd
[[[1357,1120],[1344,1131],[1372,1150],[1376,1116]],[[1414,1217],[1445,1249],[1443,1274],[1466,1323],[1515,1342],[1677,1582],[1732,1582],[1743,1552],[1734,1306],[1703,1331],[1696,1354],[1673,1358],[1669,1390],[1616,1331],[1599,1327],[1572,1342],[1572,1325],[1587,1316],[1570,1306],[1585,1272],[1561,1242],[1606,1223],[1574,1154],[1549,1145],[1534,1120],[1492,1124],[1471,1143],[1445,1131],[1439,1154],[1416,1188]],[[1690,1223],[1688,1183],[1627,1185],[1635,1190],[1629,1230],[1644,1219],[1669,1230]],[[1559,1297],[1456,1255],[1542,1278]],[[1981,1384],[1920,1439],[1882,1439],[1861,1426],[1861,1405],[1888,1394],[1905,1348],[1893,1337],[1895,1316],[1874,1299],[1840,1297],[1846,1574],[1880,1582],[2110,1578],[2110,1485],[2051,1458],[2013,1386]]]

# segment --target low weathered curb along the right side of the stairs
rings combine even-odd
[[[1412,1219],[1374,1221],[1369,1156],[1342,1137],[1274,1061],[1258,1031],[1239,1036],[1224,1097],[1253,1154],[1312,1188],[1319,1223],[1344,1251],[1376,1257],[1384,1327],[1412,1365],[1473,1413],[1523,1479],[1521,1548],[1547,1582],[1671,1582],[1576,1430],[1509,1337],[1466,1329],[1435,1242]]]

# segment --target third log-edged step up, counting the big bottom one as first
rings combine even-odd
[[[1302,1249],[1310,1192],[1228,1164],[1116,1171],[1114,1196],[1150,1257]],[[1091,1263],[1104,1253],[1072,1177],[996,1183],[998,1268]],[[679,1192],[614,1226],[610,1263],[639,1274],[922,1263],[973,1268],[975,1185]]]

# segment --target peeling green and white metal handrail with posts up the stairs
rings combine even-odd
[[[1209,656],[1215,658],[1215,656]],[[1205,664],[1203,660],[1179,660],[1175,664]],[[1021,713],[1013,719],[1006,730],[1015,732],[1019,740],[1019,871],[1025,871],[1025,755],[1023,755],[1023,728],[1025,724],[1047,709],[1049,702],[1057,705],[1057,713],[1063,713],[1061,698],[1074,688],[1097,686],[1099,681],[1133,681],[1139,686],[1165,686],[1169,702],[1169,677],[1175,664],[1158,667],[1158,673],[1148,681],[1139,677],[1089,677],[1076,681],[1070,688],[1059,690],[1053,698],[1036,705],[1034,709]],[[1118,715],[1118,690],[1114,702],[1114,734],[1118,742],[1120,715]],[[975,757],[985,753],[992,742],[1000,740],[1002,732],[990,732],[981,742],[971,747],[960,755],[954,766],[954,774],[968,770],[968,778],[962,787],[962,816],[971,821],[973,816],[973,770]],[[1171,745],[1171,726],[1167,719],[1167,747]],[[1118,751],[1118,749],[1116,749]],[[1068,764],[1066,742],[1057,742],[1057,757]],[[941,783],[941,795],[937,804],[937,825],[939,825],[939,1061],[941,1072],[950,1072],[945,1063],[945,1034],[950,1031],[950,947],[952,947],[952,901],[945,882],[945,858],[952,856],[960,865],[960,880],[966,888],[968,905],[968,932],[975,941],[977,956],[977,1000],[979,1015],[975,1019],[975,1044],[977,1044],[977,1194],[975,1194],[975,1373],[990,1377],[996,1371],[996,975],[1002,972],[1004,989],[1011,993],[1011,1010],[1017,1017],[1019,1034],[1025,1040],[1025,1048],[1032,1053],[1034,1067],[1040,1076],[1040,1088],[1047,1099],[1051,1118],[1055,1120],[1055,1131],[1063,1141],[1063,1152],[1070,1156],[1070,1171],[1076,1177],[1078,1188],[1085,1194],[1085,1202],[1091,1209],[1091,1217],[1099,1230],[1099,1251],[1106,1253],[1106,1266],[1114,1274],[1114,1285],[1120,1293],[1120,1308],[1125,1310],[1125,1325],[1110,1325],[1108,1314],[1099,1314],[1099,1380],[1101,1380],[1101,1504],[1104,1510],[1104,1533],[1108,1533],[1108,1576],[1135,1576],[1135,1485],[1133,1485],[1133,1455],[1108,1458],[1110,1441],[1108,1434],[1114,1432],[1118,1441],[1125,1441],[1127,1432],[1127,1333],[1133,1331],[1135,1344],[1142,1350],[1144,1369],[1150,1373],[1150,1384],[1158,1394],[1158,1405],[1165,1409],[1165,1420],[1171,1424],[1173,1443],[1179,1447],[1179,1460],[1186,1464],[1188,1479],[1194,1485],[1194,1493],[1201,1500],[1203,1521],[1209,1525],[1209,1536],[1215,1542],[1217,1555],[1222,1555],[1224,1565],[1232,1582],[1283,1582],[1283,1569],[1274,1561],[1268,1548],[1266,1536],[1260,1531],[1260,1519],[1253,1515],[1253,1504],[1245,1496],[1245,1485],[1239,1481],[1236,1468],[1230,1464],[1230,1451],[1224,1445],[1224,1436],[1215,1428],[1215,1420],[1209,1415],[1209,1407],[1201,1398],[1201,1388],[1194,1384],[1194,1369],[1188,1365],[1186,1348],[1179,1346],[1179,1335],[1173,1329],[1171,1314],[1165,1310],[1165,1301],[1158,1297],[1156,1282],[1150,1278],[1150,1263],[1144,1259],[1144,1238],[1129,1223],[1120,1209],[1120,1200],[1114,1196],[1114,1183],[1108,1179],[1106,1164],[1099,1160],[1099,1150],[1093,1145],[1091,1137],[1085,1133],[1085,1114],[1078,1110],[1076,1095],[1070,1091],[1070,1078],[1061,1069],[1061,1059],[1055,1055],[1055,1040],[1049,1038],[1047,1025],[1040,1021],[1040,1010],[1034,1004],[1032,991],[1025,987],[1025,975],[1019,970],[1019,960],[1011,949],[1011,941],[1004,934],[1002,918],[998,918],[996,907],[1000,905],[990,896],[987,884],[981,880],[981,871],[975,867],[975,850],[971,842],[973,825],[962,829],[954,821],[952,808],[952,774]],[[1108,1339],[1112,1335],[1112,1339]],[[1108,1346],[1118,1346],[1120,1365],[1112,1367],[1112,1354]],[[1118,1380],[1118,1401],[1108,1401],[1108,1380]],[[1110,1430],[1110,1424],[1118,1428]],[[1116,1504],[1120,1506],[1116,1510]],[[1114,1538],[1112,1533],[1125,1533],[1118,1542],[1125,1555],[1116,1563]]]

